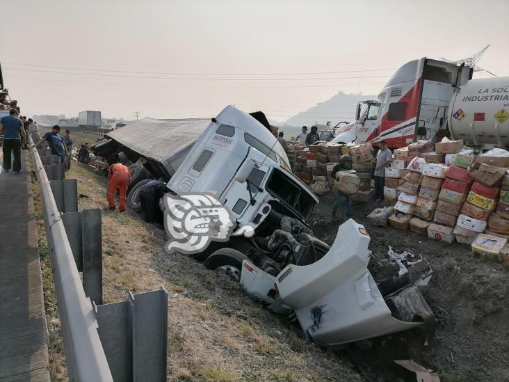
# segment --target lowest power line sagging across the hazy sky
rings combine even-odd
[[[338,86],[362,86],[376,85],[385,82],[365,82],[365,83],[336,83],[334,85],[300,85],[300,86],[163,86],[163,85],[141,85],[131,83],[103,83],[89,81],[73,81],[61,79],[42,79],[33,77],[9,76],[9,78],[31,79],[35,81],[50,81],[63,83],[85,83],[87,85],[105,85],[105,86],[129,86],[134,88],[168,88],[168,89],[298,89],[298,88],[337,88]]]

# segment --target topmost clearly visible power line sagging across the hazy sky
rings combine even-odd
[[[384,70],[396,70],[394,67],[387,69],[365,69],[365,70],[339,70],[334,72],[298,72],[298,73],[181,73],[181,72],[141,72],[138,70],[110,70],[110,69],[90,69],[86,67],[66,67],[66,66],[50,66],[50,65],[35,65],[25,63],[8,63],[9,65],[22,65],[22,66],[35,66],[47,67],[50,69],[65,69],[65,70],[89,70],[95,72],[116,72],[116,73],[138,73],[138,74],[170,74],[176,76],[297,76],[305,74],[338,74],[338,73],[363,73],[363,72],[382,72]],[[12,69],[12,68],[11,68]],[[158,77],[159,78],[159,77]]]

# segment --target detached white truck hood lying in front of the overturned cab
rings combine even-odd
[[[367,269],[369,241],[364,227],[350,219],[339,227],[334,244],[320,260],[290,264],[276,277],[282,302],[296,311],[304,331],[328,347],[403,331],[423,324],[410,321],[419,317],[419,310],[423,316],[430,313],[415,286],[389,298],[393,310],[403,311],[391,312]],[[415,294],[419,303],[405,307]],[[403,321],[393,314],[411,318]]]

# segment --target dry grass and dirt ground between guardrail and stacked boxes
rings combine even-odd
[[[79,207],[106,207],[106,178],[73,162]],[[314,211],[316,232],[332,244],[344,219],[330,218],[332,196]],[[163,285],[168,290],[168,378],[171,381],[415,381],[394,364],[413,359],[444,381],[509,381],[508,271],[471,255],[469,246],[444,244],[410,231],[376,228],[357,205],[354,218],[371,237],[371,263],[388,265],[388,246],[422,255],[435,271],[423,292],[437,318],[424,346],[423,328],[380,337],[371,347],[331,352],[302,337],[296,325],[252,301],[238,284],[187,255],[168,255],[162,227],[127,213],[103,212],[104,303]],[[391,268],[391,269],[394,269]],[[373,267],[376,277],[377,268]],[[52,318],[60,360],[58,319]],[[65,365],[65,364],[64,364]],[[64,379],[62,365],[54,379]],[[364,378],[363,378],[364,377]]]

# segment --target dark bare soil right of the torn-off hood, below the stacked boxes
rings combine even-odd
[[[316,232],[332,244],[339,218],[331,223],[332,196],[323,196],[314,211]],[[371,237],[371,265],[388,264],[388,246],[396,252],[407,250],[422,255],[435,274],[423,296],[437,319],[435,336],[424,346],[420,329],[373,340],[371,349],[350,347],[347,351],[366,379],[387,381],[410,378],[394,364],[413,359],[439,373],[444,381],[509,381],[509,273],[507,266],[485,257],[471,255],[465,244],[446,244],[410,231],[378,228],[366,216],[373,203],[354,206],[354,219]],[[375,271],[379,266],[372,266]],[[393,268],[397,271],[398,267]],[[375,276],[376,278],[376,276]],[[411,381],[414,379],[410,379]]]

